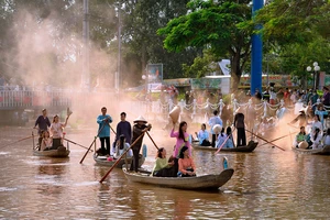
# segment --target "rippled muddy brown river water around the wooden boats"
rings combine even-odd
[[[95,132],[68,130],[66,138],[88,147]],[[29,135],[29,128],[0,128],[0,146]],[[151,135],[162,145],[158,136],[167,133]],[[156,150],[147,136],[144,142],[143,167],[151,169]],[[170,152],[174,143],[168,138],[162,146]],[[327,219],[330,157],[283,147],[216,156],[194,151],[197,175],[222,170],[223,156],[235,170],[219,191],[205,193],[130,183],[118,168],[100,184],[109,167],[96,165],[92,153],[82,164],[86,150],[75,144],[68,158],[33,156],[29,139],[0,148],[0,219]]]

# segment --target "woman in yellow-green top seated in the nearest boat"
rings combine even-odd
[[[164,147],[157,151],[157,158],[152,175],[157,177],[176,177],[174,160],[173,157],[166,158],[166,150]]]

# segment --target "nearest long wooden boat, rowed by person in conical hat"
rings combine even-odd
[[[151,176],[151,172],[131,173],[124,167],[122,170],[130,182],[188,190],[216,190],[229,182],[234,173],[234,169],[227,168],[216,175],[211,174],[195,177],[154,177]]]

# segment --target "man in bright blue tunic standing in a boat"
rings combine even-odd
[[[98,136],[100,138],[101,150],[100,154],[110,156],[110,123],[112,118],[107,114],[107,108],[101,108],[101,114],[97,118],[97,123],[99,124]],[[105,146],[106,142],[106,146]]]

